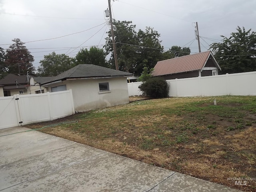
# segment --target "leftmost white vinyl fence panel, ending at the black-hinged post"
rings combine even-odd
[[[0,97],[0,129],[18,126],[14,96]]]

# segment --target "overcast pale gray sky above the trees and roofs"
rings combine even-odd
[[[150,26],[158,31],[165,50],[186,45],[198,52],[197,41],[192,42],[195,22],[202,51],[221,40],[220,35],[229,37],[237,26],[256,31],[256,0],[111,0],[111,4],[116,20],[132,21],[137,30]],[[25,46],[35,67],[53,51],[75,56],[81,47],[101,48],[110,29],[104,16],[107,8],[108,0],[0,0],[0,47],[8,48],[4,44],[12,44],[14,38],[28,42]],[[65,36],[72,33],[77,34]],[[44,40],[49,38],[55,39]]]

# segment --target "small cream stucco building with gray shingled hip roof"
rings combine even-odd
[[[49,92],[72,89],[77,112],[129,102],[127,77],[133,74],[92,64],[80,64],[47,82]]]

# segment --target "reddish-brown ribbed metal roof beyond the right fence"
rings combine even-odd
[[[208,60],[211,52],[202,52],[193,55],[158,61],[154,67],[153,76],[176,74],[188,71],[201,70]]]

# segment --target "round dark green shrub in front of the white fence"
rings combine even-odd
[[[143,92],[143,95],[153,98],[168,97],[169,93],[168,83],[160,77],[149,78],[138,88]]]

